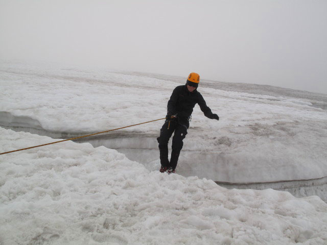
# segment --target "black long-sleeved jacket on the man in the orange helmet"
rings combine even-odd
[[[213,113],[205,104],[201,93],[197,90],[191,93],[186,85],[177,86],[174,89],[168,101],[167,109],[172,114],[177,113],[179,123],[189,128],[190,123],[188,118],[191,116],[195,104],[199,104],[201,111],[206,117],[212,118]]]

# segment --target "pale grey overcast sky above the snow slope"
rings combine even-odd
[[[327,93],[327,1],[0,0],[0,57]]]

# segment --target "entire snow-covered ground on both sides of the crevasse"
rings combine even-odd
[[[0,152],[165,117],[182,79],[1,61]],[[196,106],[177,174],[157,170],[164,121],[0,155],[0,244],[327,244],[327,95],[199,91],[221,119]]]

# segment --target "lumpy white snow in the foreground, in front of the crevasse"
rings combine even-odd
[[[0,128],[0,152],[55,139]],[[327,204],[66,141],[0,155],[0,244],[327,244]]]

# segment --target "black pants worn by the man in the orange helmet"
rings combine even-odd
[[[168,141],[174,132],[175,134],[173,136],[172,142],[172,156],[169,162]],[[160,136],[157,138],[159,143],[161,166],[171,167],[172,169],[176,168],[180,150],[183,148],[183,139],[185,138],[186,134],[188,134],[186,126],[178,124],[177,121],[170,121],[170,124],[169,121],[165,122],[165,124],[160,129]]]

